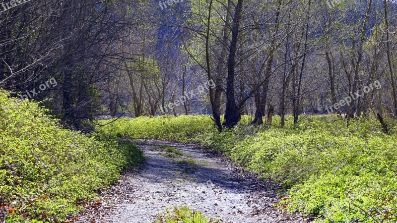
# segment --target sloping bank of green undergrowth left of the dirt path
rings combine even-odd
[[[0,90],[0,222],[68,222],[143,159],[127,140],[64,129],[47,112]]]

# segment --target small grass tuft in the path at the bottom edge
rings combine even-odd
[[[204,217],[199,211],[192,211],[189,207],[166,208],[155,223],[220,223],[219,220]]]

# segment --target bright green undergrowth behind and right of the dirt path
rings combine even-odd
[[[287,192],[280,208],[317,222],[397,221],[395,120],[387,120],[390,135],[375,118],[351,120],[348,127],[333,115],[302,117],[296,125],[287,116],[284,128],[279,123],[275,116],[272,126],[239,125],[219,134],[209,116],[183,115],[125,118],[100,131],[200,142],[279,183]]]

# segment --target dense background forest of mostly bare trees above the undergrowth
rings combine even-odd
[[[268,111],[295,122],[397,115],[395,0],[171,3],[32,0],[4,10],[0,86],[73,129],[122,114],[208,113],[219,128],[224,113],[225,125],[241,114],[262,123]],[[58,84],[38,93],[51,78]],[[208,80],[216,87],[167,108]]]

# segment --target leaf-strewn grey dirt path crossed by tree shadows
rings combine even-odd
[[[162,148],[160,148],[160,146]],[[152,223],[165,207],[189,206],[224,223],[307,222],[274,208],[276,188],[264,185],[221,157],[192,145],[139,141],[146,162],[127,173],[103,196],[102,204],[78,216],[81,223]],[[183,153],[166,157],[164,147]]]

